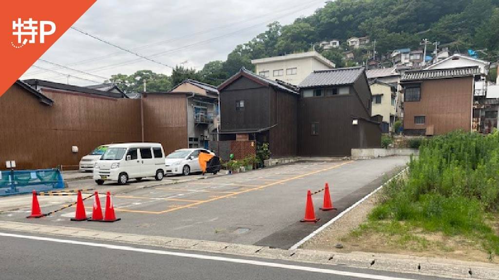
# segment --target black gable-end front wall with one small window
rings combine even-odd
[[[245,109],[236,111],[236,101]],[[268,87],[240,77],[220,92],[221,132],[258,130],[270,127]]]

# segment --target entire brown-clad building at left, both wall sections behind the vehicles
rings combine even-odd
[[[74,169],[98,145],[142,140],[161,142],[170,152],[187,147],[186,117],[185,94],[141,101],[119,92],[17,81],[0,98],[0,162],[15,160],[17,169]]]

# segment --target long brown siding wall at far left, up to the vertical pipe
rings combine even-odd
[[[1,96],[0,162],[16,160],[18,169],[77,165],[100,144],[141,139],[139,100],[44,94],[53,106],[15,84]],[[71,152],[73,145],[78,153]]]

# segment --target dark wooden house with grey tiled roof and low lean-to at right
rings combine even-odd
[[[314,71],[299,88],[298,155],[349,156],[352,148],[381,146],[363,67]]]

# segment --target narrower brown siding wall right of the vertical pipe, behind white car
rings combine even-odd
[[[168,154],[188,147],[185,95],[149,94],[144,98],[144,139],[163,145]]]

